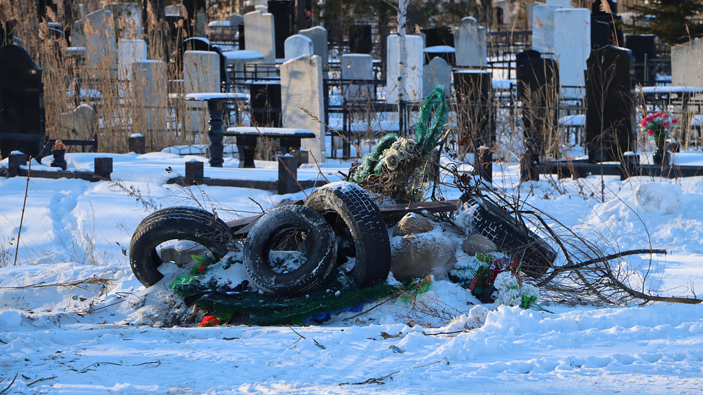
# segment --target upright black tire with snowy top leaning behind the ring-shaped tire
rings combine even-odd
[[[358,285],[382,283],[388,278],[391,264],[388,231],[378,206],[366,190],[354,183],[329,183],[311,193],[305,205],[322,214],[335,229],[340,255],[349,253],[356,257],[351,274]]]

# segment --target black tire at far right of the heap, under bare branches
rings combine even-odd
[[[473,195],[460,197],[462,204],[472,207],[473,233],[479,233],[496,243],[501,252],[510,252],[522,262],[522,273],[532,278],[540,278],[546,273],[557,253],[545,240],[533,231],[524,228],[505,210],[492,202]]]

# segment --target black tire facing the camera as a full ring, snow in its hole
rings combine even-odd
[[[290,272],[274,271],[269,252],[290,232],[307,234],[307,259]],[[297,250],[297,248],[293,248]],[[337,239],[332,227],[314,209],[289,205],[264,214],[244,243],[244,267],[260,290],[271,294],[301,294],[314,290],[329,276],[337,259]]]

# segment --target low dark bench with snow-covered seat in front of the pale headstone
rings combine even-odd
[[[239,167],[254,167],[254,153],[257,148],[257,137],[273,138],[280,141],[280,155],[292,154],[299,157],[300,140],[314,138],[315,134],[307,129],[291,129],[283,127],[229,127],[224,136],[237,138],[239,149]],[[302,160],[298,160],[302,162]]]

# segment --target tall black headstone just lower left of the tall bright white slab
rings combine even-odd
[[[559,67],[537,51],[516,54],[517,98],[522,103],[525,138],[534,138],[541,155],[555,154],[559,104]],[[556,155],[554,155],[556,156]]]

